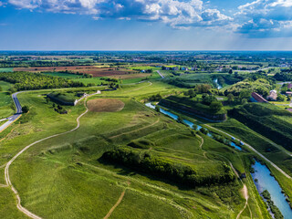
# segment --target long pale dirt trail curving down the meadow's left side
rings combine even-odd
[[[16,156],[14,156],[9,162],[6,163],[6,166],[5,166],[5,182],[6,182],[6,185],[5,187],[10,187],[11,190],[16,194],[16,199],[17,199],[17,208],[19,209],[19,211],[21,211],[22,213],[26,214],[27,216],[31,217],[31,218],[34,218],[34,219],[41,219],[41,217],[37,216],[36,214],[33,214],[31,212],[29,212],[25,207],[23,207],[21,205],[21,199],[20,199],[20,196],[19,196],[19,193],[17,192],[16,188],[13,186],[13,184],[11,183],[11,180],[10,180],[10,176],[9,176],[9,167],[10,165],[16,160],[17,157],[19,157],[23,152],[25,152],[27,149],[29,149],[30,147],[36,145],[37,143],[41,142],[41,141],[46,141],[48,139],[52,139],[52,138],[55,138],[57,136],[60,136],[60,135],[64,135],[64,134],[68,134],[74,130],[78,130],[78,128],[80,127],[80,118],[83,117],[88,111],[88,107],[86,105],[86,100],[84,100],[84,106],[86,108],[86,111],[83,112],[80,116],[78,116],[77,118],[77,127],[74,128],[73,130],[68,130],[68,131],[65,131],[63,133],[59,133],[59,134],[55,134],[55,135],[52,135],[52,136],[49,136],[47,138],[44,138],[42,140],[38,140],[38,141],[35,141],[29,145],[27,145],[23,150],[19,151]]]

